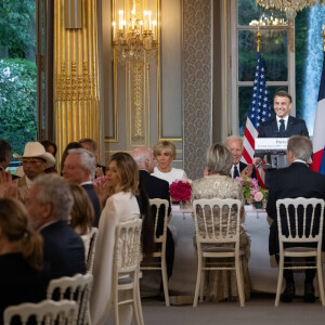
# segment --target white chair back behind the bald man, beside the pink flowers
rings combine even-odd
[[[151,198],[150,205],[155,213],[155,243],[162,243],[162,245],[165,243],[166,245],[169,203],[167,199]]]

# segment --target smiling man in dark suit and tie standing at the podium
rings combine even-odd
[[[308,129],[303,119],[299,119],[289,115],[292,98],[281,90],[275,93],[274,100],[275,117],[262,122],[259,129],[258,138],[290,138],[291,135],[309,136]],[[259,167],[265,154],[256,154],[252,164]],[[268,173],[265,176],[265,185],[268,187]]]

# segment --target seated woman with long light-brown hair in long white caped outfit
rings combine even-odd
[[[112,276],[113,252],[115,244],[115,229],[119,222],[141,218],[136,200],[139,195],[139,170],[133,158],[126,153],[116,153],[110,156],[106,168],[108,198],[102,211],[96,252],[94,258],[94,283],[90,299],[91,323],[93,325],[110,324],[112,322]],[[148,202],[142,197],[141,206],[144,209],[143,230],[151,222],[147,214]],[[143,233],[143,231],[142,231]],[[152,247],[154,234],[142,237],[143,252]],[[119,307],[120,324],[131,324],[131,306]],[[108,322],[108,323],[107,323]]]

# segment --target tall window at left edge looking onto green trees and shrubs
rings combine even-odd
[[[13,152],[37,134],[36,1],[0,4],[0,138]]]

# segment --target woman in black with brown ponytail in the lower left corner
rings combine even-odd
[[[31,230],[18,200],[0,198],[0,324],[12,304],[46,298],[42,237]]]

